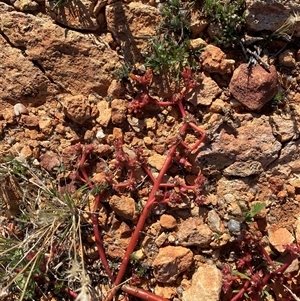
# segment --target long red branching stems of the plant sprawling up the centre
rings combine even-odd
[[[152,190],[151,190],[151,192],[148,196],[146,205],[144,206],[144,208],[142,210],[142,213],[141,213],[141,215],[138,219],[137,225],[136,225],[135,230],[133,232],[133,235],[130,239],[129,245],[126,249],[125,255],[123,257],[123,260],[122,260],[122,263],[120,265],[120,269],[117,273],[116,278],[113,276],[113,274],[112,274],[112,272],[109,268],[107,259],[106,259],[105,251],[103,249],[101,234],[100,234],[99,227],[98,227],[98,218],[97,218],[97,213],[96,213],[104,192],[101,192],[100,194],[98,194],[95,197],[93,214],[92,214],[92,221],[93,221],[94,235],[96,237],[96,244],[97,244],[97,248],[98,248],[98,254],[99,254],[99,257],[102,261],[103,267],[104,267],[107,275],[109,276],[109,278],[113,282],[113,287],[110,290],[109,294],[106,296],[105,301],[111,301],[120,288],[122,288],[123,291],[125,291],[125,292],[127,292],[131,295],[137,296],[137,297],[139,297],[143,300],[167,301],[166,299],[164,299],[162,297],[159,297],[159,296],[157,296],[157,295],[155,295],[151,292],[148,292],[148,291],[144,291],[144,290],[141,290],[141,289],[138,289],[138,288],[132,288],[128,285],[121,286],[121,283],[122,283],[125,272],[127,270],[127,266],[129,264],[129,261],[130,261],[130,255],[133,253],[133,251],[135,249],[135,246],[136,246],[136,244],[139,240],[140,233],[143,230],[143,227],[145,225],[145,221],[146,221],[146,219],[149,215],[149,212],[151,211],[151,209],[153,208],[153,206],[155,204],[158,204],[159,202],[168,201],[168,198],[166,198],[166,197],[161,199],[161,194],[159,193],[159,190],[161,188],[171,189],[171,188],[174,188],[176,186],[176,184],[162,183],[162,181],[163,181],[163,177],[165,176],[165,174],[167,173],[169,167],[171,166],[173,159],[176,157],[177,147],[181,144],[187,150],[195,151],[195,150],[198,149],[200,144],[205,139],[205,131],[200,129],[193,122],[193,118],[191,116],[189,116],[186,113],[185,109],[184,109],[182,101],[183,101],[184,97],[186,96],[186,94],[189,92],[189,90],[195,86],[195,82],[191,79],[191,71],[190,70],[188,70],[186,73],[183,73],[183,76],[184,76],[184,80],[185,80],[185,83],[186,83],[185,89],[181,93],[178,93],[178,94],[174,95],[172,101],[157,102],[158,105],[163,105],[163,106],[164,105],[177,105],[178,108],[179,108],[179,111],[181,112],[181,115],[183,117],[183,124],[181,125],[181,127],[178,131],[177,138],[174,139],[175,141],[173,142],[170,150],[168,151],[166,160],[165,160],[165,162],[164,162],[157,178],[155,178],[152,175],[151,171],[148,169],[146,164],[141,165],[143,167],[143,169],[145,170],[145,172],[147,173],[147,175],[149,176],[149,178],[152,180],[153,186],[152,186]],[[151,81],[152,74],[147,71],[147,73],[142,77],[134,75],[134,76],[132,76],[132,78],[134,80],[137,80],[143,86],[143,97],[141,97],[142,98],[142,103],[138,102],[138,101],[136,101],[136,103],[135,103],[135,108],[136,109],[141,109],[149,101],[153,100],[151,98],[151,96],[149,96],[148,88],[147,88],[147,85]],[[195,130],[196,132],[198,132],[200,134],[200,137],[198,138],[198,141],[191,147],[188,146],[183,141],[183,137],[184,137],[188,127],[191,127],[193,130]],[[87,154],[90,153],[91,151],[92,151],[92,149],[90,147],[86,147],[86,149],[84,150],[84,152],[82,154],[82,158],[81,158],[80,163],[79,163],[79,171],[81,173],[79,178],[83,179],[86,183],[88,183],[89,187],[91,189],[93,189],[94,184],[89,181],[89,178],[87,176],[85,166],[84,166],[86,158],[87,158]],[[131,184],[133,182],[133,176],[134,176],[134,168],[131,167],[129,180],[124,182],[124,183],[116,184],[113,188],[114,189],[119,189],[119,188],[131,187]],[[197,186],[199,186],[199,183],[200,182],[195,182],[195,185],[190,185],[190,186],[183,185],[183,188],[186,189],[186,190],[194,190],[196,192],[196,188],[197,188]]]

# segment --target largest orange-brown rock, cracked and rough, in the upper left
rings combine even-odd
[[[0,15],[1,32],[14,45],[11,47],[0,37],[2,99],[26,105],[44,103],[62,91],[107,95],[114,70],[120,64],[118,54],[101,39],[66,31],[50,18],[8,11],[5,5],[0,7]],[[17,48],[25,49],[25,55]],[[38,62],[40,68],[33,62]]]

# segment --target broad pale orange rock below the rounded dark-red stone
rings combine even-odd
[[[221,129],[215,139],[201,147],[198,160],[202,168],[214,166],[223,170],[234,162],[259,162],[263,169],[279,156],[281,143],[274,137],[269,117],[244,114],[246,126],[232,135]]]

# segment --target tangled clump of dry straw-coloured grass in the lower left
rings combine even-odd
[[[14,228],[6,227],[0,234],[0,296],[17,294],[18,300],[32,300],[42,282],[64,294],[64,288],[79,291],[77,300],[90,300],[89,276],[83,255],[78,255],[84,254],[80,208],[87,201],[86,186],[74,194],[60,193],[49,174],[13,158],[0,164],[0,177],[18,183],[19,193],[14,215],[4,218]],[[1,185],[6,210],[12,195],[7,189]]]

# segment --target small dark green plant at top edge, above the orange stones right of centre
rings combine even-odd
[[[237,40],[245,19],[244,5],[245,0],[205,0],[204,13],[219,29],[217,44],[230,46]]]

